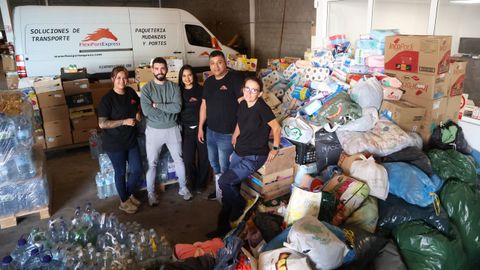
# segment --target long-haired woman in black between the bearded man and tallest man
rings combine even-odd
[[[193,190],[196,193],[202,193],[207,184],[210,167],[207,146],[197,139],[198,117],[200,105],[202,104],[203,88],[198,84],[197,77],[189,65],[185,65],[180,69],[178,78],[183,100],[180,122],[182,124],[182,151],[185,173],[187,179],[193,185]],[[198,156],[197,162],[196,156]]]

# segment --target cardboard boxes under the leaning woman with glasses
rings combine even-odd
[[[282,138],[278,155],[265,163],[257,172],[241,185],[241,193],[246,198],[260,193],[264,200],[271,200],[290,193],[295,175],[295,146]]]

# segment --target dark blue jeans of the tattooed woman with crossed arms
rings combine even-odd
[[[120,200],[125,202],[142,182],[142,161],[138,146],[126,151],[107,152],[115,170],[115,187],[117,188]],[[126,165],[128,162],[128,181],[125,182]]]

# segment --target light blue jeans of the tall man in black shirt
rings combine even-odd
[[[207,128],[208,160],[215,174],[224,173],[230,166],[233,152],[232,134],[223,134]]]

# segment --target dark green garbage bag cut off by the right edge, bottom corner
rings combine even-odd
[[[440,201],[458,228],[469,262],[480,265],[480,193],[455,179],[442,188]]]

